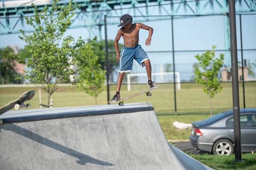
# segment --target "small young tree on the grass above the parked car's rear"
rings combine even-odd
[[[212,116],[212,98],[217,94],[218,92],[221,92],[222,87],[221,83],[218,80],[218,72],[220,71],[223,60],[224,60],[224,54],[220,54],[220,57],[215,57],[215,51],[216,48],[215,45],[212,46],[213,50],[209,51],[207,50],[204,54],[201,56],[196,55],[195,58],[198,59],[199,67],[195,68],[194,74],[195,74],[195,81],[197,83],[200,83],[203,86],[204,92],[209,96],[210,98],[210,113]]]

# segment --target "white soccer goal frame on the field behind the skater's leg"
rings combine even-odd
[[[161,81],[159,83],[168,83],[168,81],[165,80],[164,76],[165,75],[173,75],[173,72],[152,73],[151,75],[152,76],[157,76],[157,75],[161,76]],[[177,88],[178,88],[178,90],[180,90],[180,72],[175,72],[175,75],[176,75],[175,77],[176,77]],[[141,84],[141,83],[137,83],[137,82],[131,83],[131,77],[139,77],[139,76],[147,78],[146,73],[127,74],[127,90],[128,91],[131,91],[131,84]]]

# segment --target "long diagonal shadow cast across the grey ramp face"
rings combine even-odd
[[[70,149],[68,147],[65,147],[61,144],[58,144],[56,142],[53,142],[49,139],[46,139],[42,136],[39,136],[36,133],[33,133],[29,130],[24,129],[23,127],[19,127],[17,125],[14,124],[6,124],[5,126],[1,127],[1,129],[5,129],[5,130],[10,130],[13,131],[14,133],[17,133],[21,136],[24,136],[28,139],[31,139],[35,142],[38,142],[40,144],[44,144],[47,147],[51,147],[52,149],[58,150],[62,153],[66,153],[70,156],[76,157],[77,160],[76,162],[81,164],[81,165],[85,165],[86,163],[91,163],[91,164],[99,164],[99,165],[105,165],[105,166],[114,166],[114,164],[111,164],[109,162],[105,162],[105,161],[101,161],[99,159],[94,159],[90,156],[87,156],[83,153],[80,153],[76,150]]]

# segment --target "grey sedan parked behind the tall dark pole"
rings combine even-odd
[[[256,151],[256,108],[240,109],[241,151]],[[190,143],[198,150],[218,155],[234,152],[233,110],[192,122]]]

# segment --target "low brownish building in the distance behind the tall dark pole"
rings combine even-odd
[[[248,68],[244,66],[244,80],[248,77]],[[221,70],[221,78],[223,82],[229,82],[232,80],[231,77],[231,67],[226,67]],[[238,66],[238,80],[241,81],[243,79],[242,67]]]

